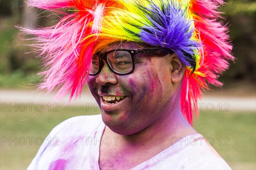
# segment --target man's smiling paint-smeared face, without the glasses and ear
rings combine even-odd
[[[143,47],[147,48],[135,42],[116,42],[102,52]],[[168,57],[137,55],[135,70],[128,75],[114,74],[104,61],[101,73],[89,76],[87,84],[102,110],[102,120],[113,132],[138,133],[164,116],[174,93]],[[112,98],[115,101],[105,101]]]

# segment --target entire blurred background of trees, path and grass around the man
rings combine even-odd
[[[256,1],[225,2],[223,22],[230,26],[236,61],[219,78],[222,88],[204,92],[194,126],[232,169],[256,169]],[[53,127],[100,113],[86,87],[80,101],[65,107],[67,99],[51,103],[54,95],[33,92],[42,63],[26,46],[31,36],[14,26],[51,26],[58,19],[45,15],[23,0],[0,0],[0,169],[26,169]]]

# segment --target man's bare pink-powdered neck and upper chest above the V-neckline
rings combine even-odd
[[[197,133],[178,110],[166,113],[154,125],[133,135],[120,135],[107,126],[102,135],[99,167],[131,169],[170,147],[178,139]],[[104,143],[110,139],[110,143]],[[122,164],[120,164],[122,162]]]

